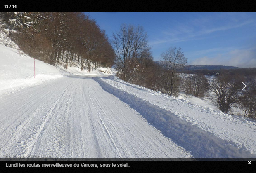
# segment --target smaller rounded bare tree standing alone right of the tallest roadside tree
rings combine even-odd
[[[170,47],[161,54],[161,58],[166,69],[166,93],[171,96],[174,92],[177,95],[180,90],[180,77],[177,71],[185,66],[187,58],[180,47]]]

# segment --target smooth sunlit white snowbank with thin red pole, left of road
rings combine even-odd
[[[0,45],[0,52],[0,94],[35,86],[67,74],[52,65],[35,60],[36,78],[34,78],[33,58],[19,55],[17,49],[3,45]]]

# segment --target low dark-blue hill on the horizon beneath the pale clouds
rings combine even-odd
[[[184,70],[228,70],[228,69],[238,69],[239,67],[226,66],[226,65],[187,65]]]

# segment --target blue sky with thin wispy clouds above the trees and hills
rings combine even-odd
[[[256,12],[85,12],[109,39],[122,23],[143,26],[154,60],[181,47],[191,65],[256,67]]]

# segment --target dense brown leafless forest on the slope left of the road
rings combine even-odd
[[[45,63],[55,65],[64,56],[65,68],[74,58],[81,70],[113,65],[105,31],[83,12],[0,12],[0,20],[25,54]]]

